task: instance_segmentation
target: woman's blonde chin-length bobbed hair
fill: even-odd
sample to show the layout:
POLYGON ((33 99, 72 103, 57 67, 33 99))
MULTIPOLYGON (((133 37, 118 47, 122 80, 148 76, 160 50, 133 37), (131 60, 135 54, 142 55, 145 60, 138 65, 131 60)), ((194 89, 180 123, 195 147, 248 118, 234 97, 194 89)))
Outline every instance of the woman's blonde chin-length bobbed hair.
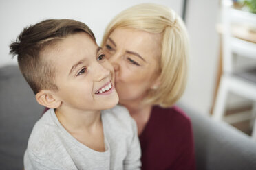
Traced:
POLYGON ((125 27, 162 34, 160 86, 149 90, 145 102, 168 107, 175 104, 186 87, 189 38, 178 14, 162 5, 145 3, 118 14, 107 26, 102 45, 116 28, 125 27))

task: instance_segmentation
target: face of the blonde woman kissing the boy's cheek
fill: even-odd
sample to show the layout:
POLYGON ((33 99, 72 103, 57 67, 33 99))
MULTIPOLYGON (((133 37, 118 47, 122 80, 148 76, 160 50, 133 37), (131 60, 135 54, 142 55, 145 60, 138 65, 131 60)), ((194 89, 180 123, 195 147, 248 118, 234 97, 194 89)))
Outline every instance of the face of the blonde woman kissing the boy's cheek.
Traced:
POLYGON ((114 66, 116 90, 121 104, 138 102, 158 86, 161 34, 118 28, 112 32, 103 52, 114 66))

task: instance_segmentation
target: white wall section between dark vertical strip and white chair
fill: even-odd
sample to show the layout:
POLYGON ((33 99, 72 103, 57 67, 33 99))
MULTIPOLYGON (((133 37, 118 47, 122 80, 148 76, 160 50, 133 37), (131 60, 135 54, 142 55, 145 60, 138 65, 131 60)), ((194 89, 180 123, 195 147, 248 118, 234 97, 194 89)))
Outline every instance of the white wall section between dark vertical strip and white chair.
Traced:
POLYGON ((191 58, 189 80, 181 101, 203 114, 210 112, 217 76, 218 3, 217 0, 189 0, 186 12, 191 58))

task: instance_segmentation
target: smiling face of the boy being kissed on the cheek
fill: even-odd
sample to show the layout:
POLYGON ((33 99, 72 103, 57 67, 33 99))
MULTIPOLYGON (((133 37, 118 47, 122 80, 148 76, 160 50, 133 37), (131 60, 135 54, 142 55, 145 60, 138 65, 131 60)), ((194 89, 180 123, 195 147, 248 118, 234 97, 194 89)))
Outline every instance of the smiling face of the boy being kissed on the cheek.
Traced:
POLYGON ((53 59, 56 96, 61 106, 73 110, 103 110, 118 103, 114 69, 103 51, 84 32, 67 36, 50 50, 53 59))

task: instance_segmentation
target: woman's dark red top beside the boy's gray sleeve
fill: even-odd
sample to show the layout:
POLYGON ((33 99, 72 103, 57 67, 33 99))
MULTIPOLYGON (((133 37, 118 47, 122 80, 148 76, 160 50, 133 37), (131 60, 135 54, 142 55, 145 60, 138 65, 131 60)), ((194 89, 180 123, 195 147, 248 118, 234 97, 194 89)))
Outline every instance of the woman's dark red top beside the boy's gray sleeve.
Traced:
POLYGON ((191 121, 179 108, 153 106, 139 138, 142 169, 195 169, 191 121))

